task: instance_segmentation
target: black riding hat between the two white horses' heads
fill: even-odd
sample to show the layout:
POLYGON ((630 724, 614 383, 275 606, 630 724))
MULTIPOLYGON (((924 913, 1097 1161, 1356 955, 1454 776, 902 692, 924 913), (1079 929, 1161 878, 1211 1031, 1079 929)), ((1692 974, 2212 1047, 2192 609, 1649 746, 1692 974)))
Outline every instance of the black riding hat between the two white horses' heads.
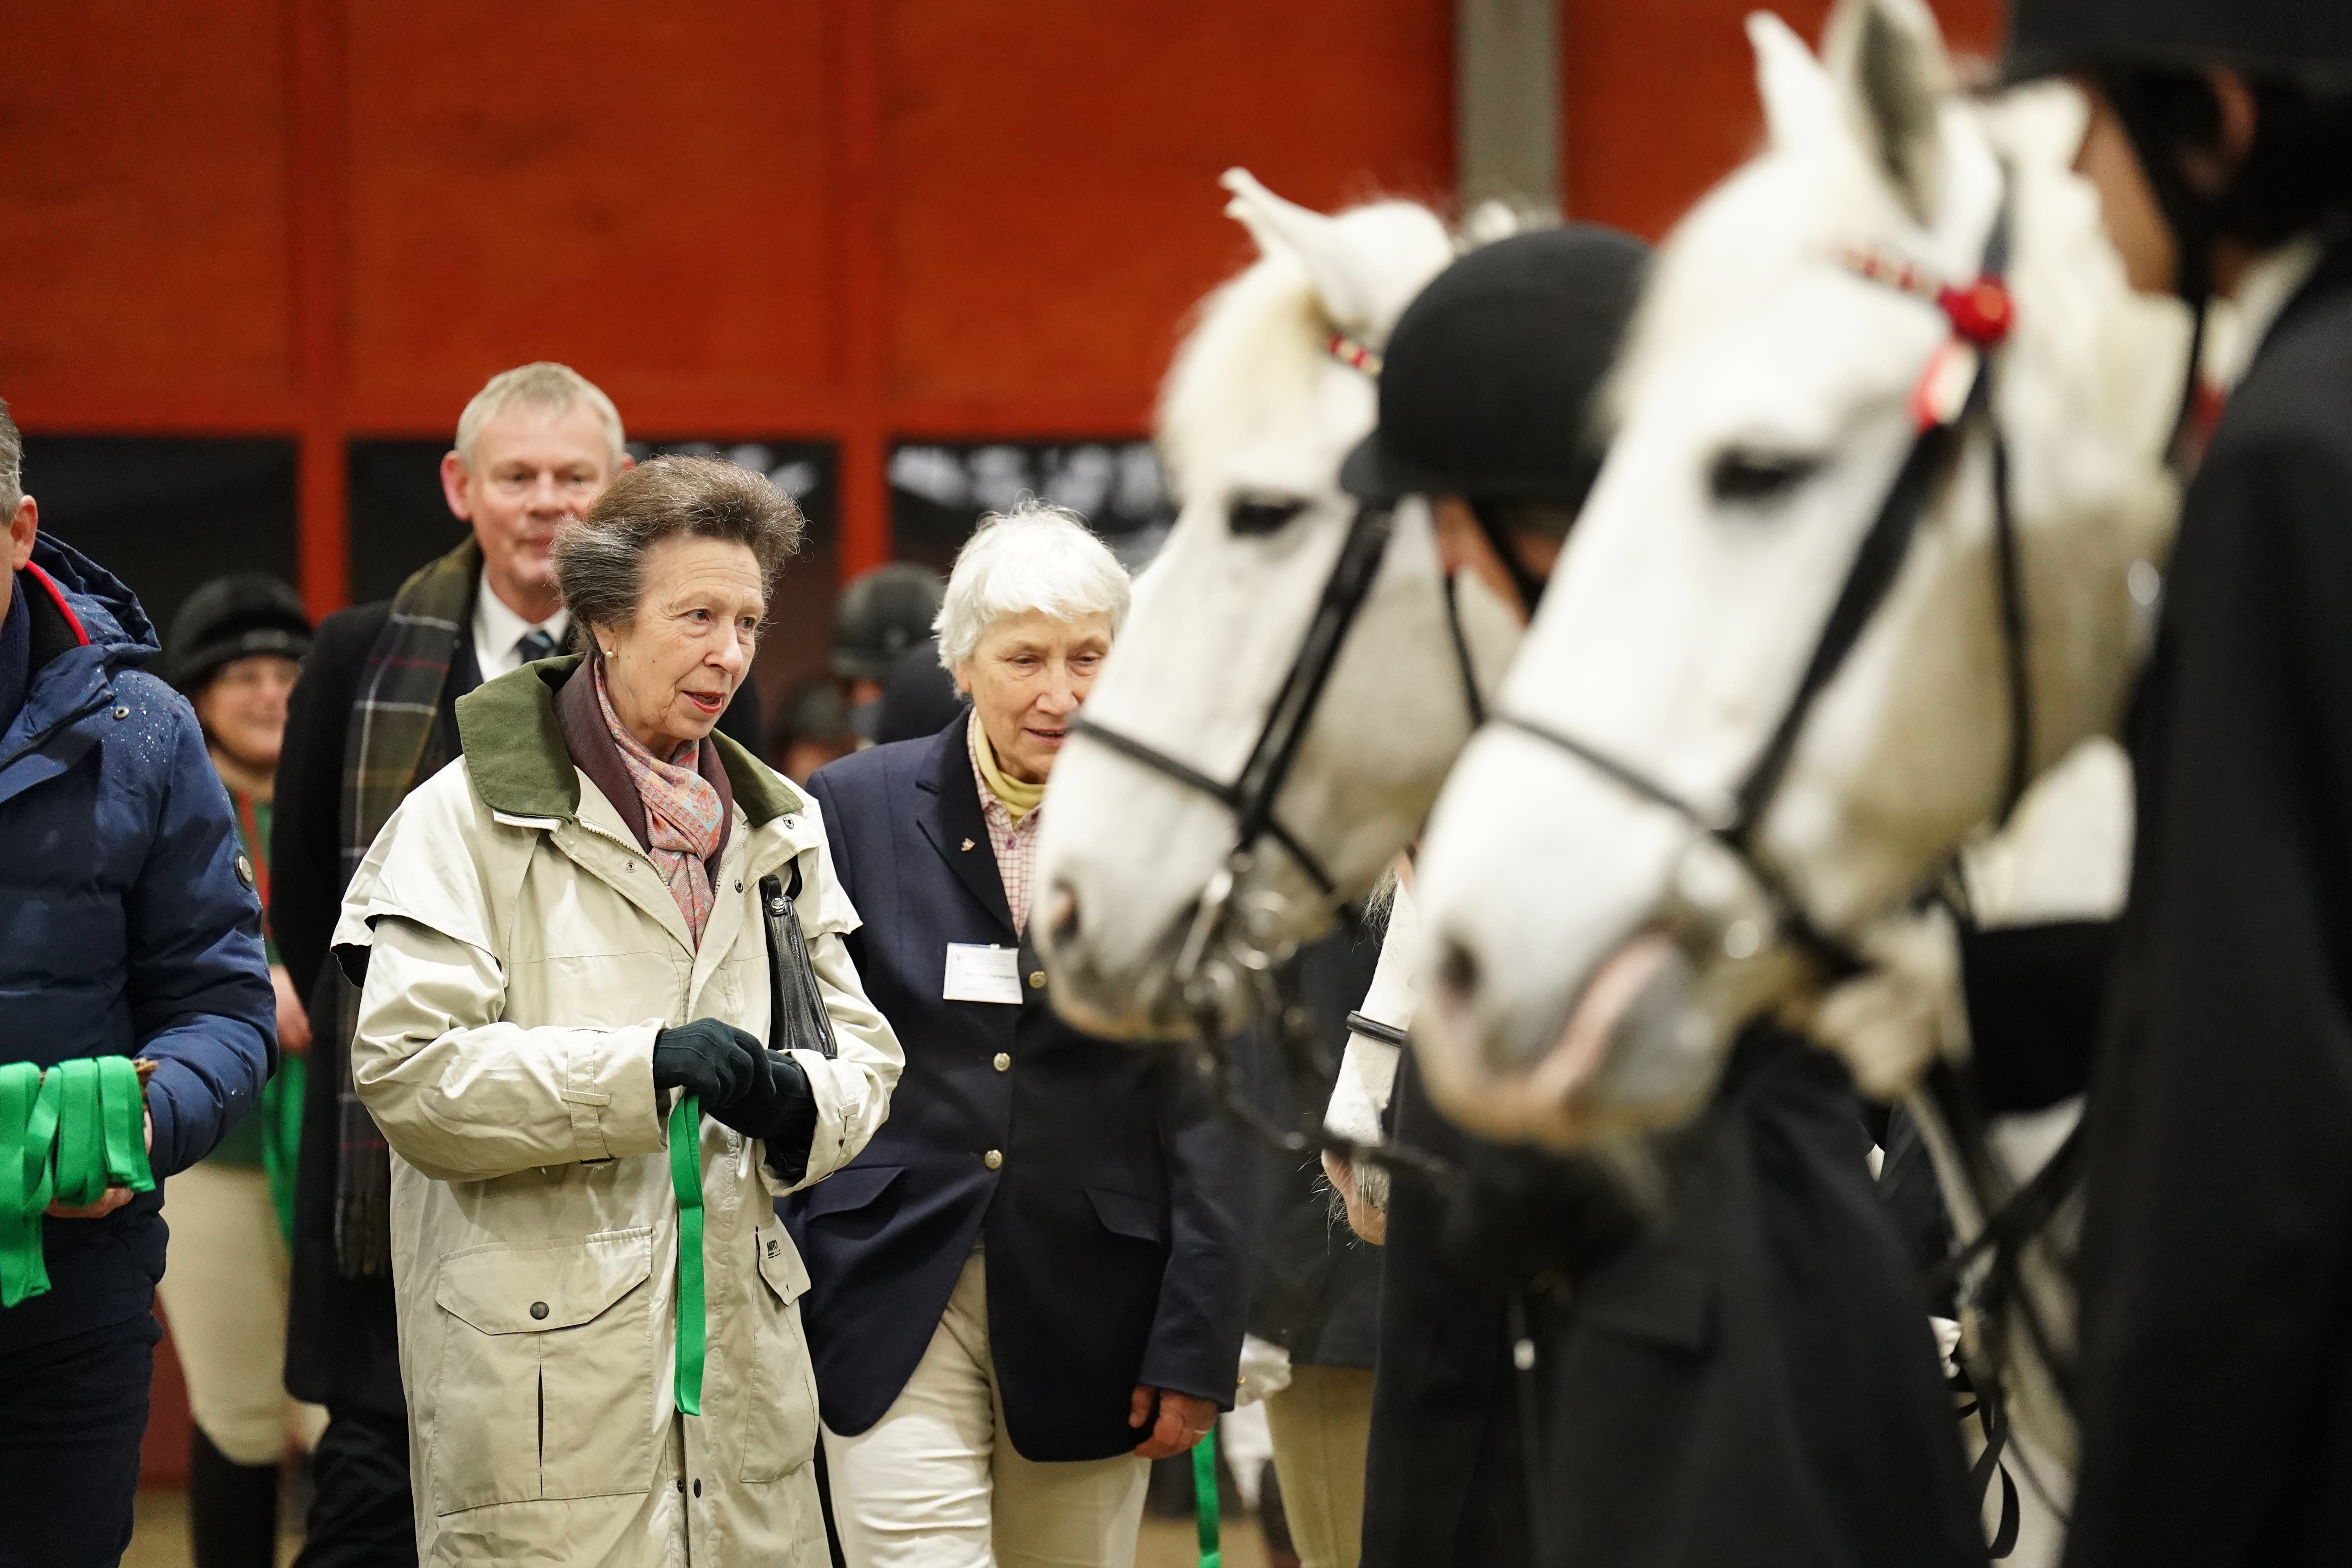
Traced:
POLYGON ((1404 308, 1381 428, 1348 454, 1362 501, 1526 496, 1576 505, 1599 473, 1590 404, 1616 362, 1649 247, 1595 223, 1484 244, 1404 308))

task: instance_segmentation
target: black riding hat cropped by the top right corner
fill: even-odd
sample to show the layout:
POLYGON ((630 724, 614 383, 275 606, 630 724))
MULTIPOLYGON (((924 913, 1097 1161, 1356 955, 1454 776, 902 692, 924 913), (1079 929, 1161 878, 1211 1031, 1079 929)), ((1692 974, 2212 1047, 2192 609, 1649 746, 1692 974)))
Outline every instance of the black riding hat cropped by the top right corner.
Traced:
POLYGON ((2023 82, 2117 66, 2237 66, 2352 85, 2345 0, 2016 0, 2002 73, 2023 82))

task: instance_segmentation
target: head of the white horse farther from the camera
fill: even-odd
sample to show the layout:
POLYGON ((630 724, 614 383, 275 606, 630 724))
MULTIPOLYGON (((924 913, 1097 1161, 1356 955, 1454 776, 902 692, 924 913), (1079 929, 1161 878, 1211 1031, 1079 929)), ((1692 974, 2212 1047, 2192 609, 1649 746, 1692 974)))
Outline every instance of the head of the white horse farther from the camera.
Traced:
MULTIPOLYGON (((1087 722, 1230 783, 1265 724, 1357 505, 1341 458, 1376 418, 1371 369, 1404 306, 1451 259, 1411 202, 1338 216, 1242 172, 1225 209, 1261 259, 1218 289, 1176 355, 1160 447, 1183 512, 1087 698, 1087 722)), ((1515 637, 1491 597, 1465 632, 1501 670, 1515 637)), ((1334 919, 1418 827, 1470 733, 1425 510, 1404 508, 1324 701, 1275 802, 1334 886, 1268 839, 1235 889, 1279 940, 1334 919)), ((1054 766, 1037 842, 1037 945, 1056 1004, 1103 1034, 1167 1034, 1169 976, 1202 893, 1235 849, 1232 811, 1080 731, 1054 766)))

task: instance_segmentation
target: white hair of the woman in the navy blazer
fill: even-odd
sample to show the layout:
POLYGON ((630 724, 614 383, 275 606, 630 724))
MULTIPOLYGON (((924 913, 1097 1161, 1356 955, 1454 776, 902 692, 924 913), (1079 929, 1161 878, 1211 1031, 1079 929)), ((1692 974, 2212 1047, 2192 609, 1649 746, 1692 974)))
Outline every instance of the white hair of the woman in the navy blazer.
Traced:
POLYGON ((1129 581, 1120 557, 1065 505, 1023 498, 1009 512, 981 517, 948 574, 948 597, 931 630, 948 670, 971 658, 1004 616, 1042 609, 1056 621, 1110 616, 1127 621, 1129 581))

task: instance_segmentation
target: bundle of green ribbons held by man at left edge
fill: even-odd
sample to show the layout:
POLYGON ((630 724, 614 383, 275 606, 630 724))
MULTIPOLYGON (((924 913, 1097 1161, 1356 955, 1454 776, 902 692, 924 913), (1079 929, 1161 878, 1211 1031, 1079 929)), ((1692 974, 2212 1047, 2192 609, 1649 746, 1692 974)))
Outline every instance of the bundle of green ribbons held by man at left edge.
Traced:
POLYGON ((0 1307, 49 1288, 40 1215, 52 1199, 96 1204, 108 1187, 155 1190, 132 1058, 0 1067, 0 1307))

